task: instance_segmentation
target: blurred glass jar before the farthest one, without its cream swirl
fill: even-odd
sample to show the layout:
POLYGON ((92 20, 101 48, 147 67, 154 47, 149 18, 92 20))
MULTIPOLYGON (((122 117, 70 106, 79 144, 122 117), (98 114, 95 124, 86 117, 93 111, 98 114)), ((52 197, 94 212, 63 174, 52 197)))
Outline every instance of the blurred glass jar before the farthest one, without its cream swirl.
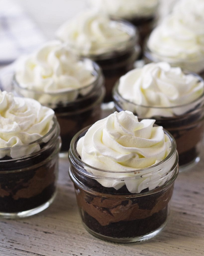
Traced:
POLYGON ((125 31, 129 35, 129 40, 114 42, 112 45, 108 42, 107 46, 104 45, 104 49, 107 49, 98 54, 88 53, 85 48, 77 49, 74 45, 69 45, 69 41, 67 42, 75 54, 90 58, 101 67, 105 77, 105 102, 112 101, 111 92, 114 83, 127 71, 133 69, 135 60, 140 53, 136 28, 131 23, 123 20, 111 20, 111 24, 125 31))

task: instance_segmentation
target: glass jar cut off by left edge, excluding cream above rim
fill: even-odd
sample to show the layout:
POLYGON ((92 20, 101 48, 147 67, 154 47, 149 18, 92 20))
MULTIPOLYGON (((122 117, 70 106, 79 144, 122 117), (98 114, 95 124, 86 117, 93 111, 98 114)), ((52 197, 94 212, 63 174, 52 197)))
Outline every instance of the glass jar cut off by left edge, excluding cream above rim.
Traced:
POLYGON ((4 156, 0 159, 0 217, 28 217, 53 202, 61 146, 55 116, 53 121, 53 127, 40 139, 22 146, 0 148, 4 156), (34 152, 30 154, 31 151, 34 152), (20 156, 18 152, 25 155, 20 156))

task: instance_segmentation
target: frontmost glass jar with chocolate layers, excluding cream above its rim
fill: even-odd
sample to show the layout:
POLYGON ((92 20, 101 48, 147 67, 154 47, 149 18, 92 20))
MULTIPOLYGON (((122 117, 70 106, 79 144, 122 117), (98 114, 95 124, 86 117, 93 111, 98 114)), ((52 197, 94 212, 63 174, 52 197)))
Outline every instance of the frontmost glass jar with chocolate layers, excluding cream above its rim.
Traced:
POLYGON ((164 130, 170 138, 171 151, 163 161, 121 173, 98 169, 81 160, 76 147, 86 131, 87 127, 73 137, 69 151, 69 175, 84 227, 92 235, 112 242, 129 243, 154 237, 167 223, 169 201, 178 174, 174 138, 164 130), (101 185, 104 183, 109 186, 101 185), (118 183, 125 185, 118 190, 110 185, 118 183), (139 193, 130 193, 127 189, 139 184, 148 184, 149 189, 139 193))

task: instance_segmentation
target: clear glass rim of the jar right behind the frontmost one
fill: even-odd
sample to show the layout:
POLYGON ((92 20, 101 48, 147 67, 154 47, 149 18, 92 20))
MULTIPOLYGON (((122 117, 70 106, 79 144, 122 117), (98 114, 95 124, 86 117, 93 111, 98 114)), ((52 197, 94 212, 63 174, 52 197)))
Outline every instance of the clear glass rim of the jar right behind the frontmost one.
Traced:
MULTIPOLYGON (((203 78, 200 77, 198 74, 193 73, 193 72, 185 72, 185 73, 193 74, 194 76, 198 77, 198 79, 200 80, 200 82, 203 82, 203 83, 204 83, 203 78)), ((123 98, 123 97, 121 96, 121 94, 119 93, 119 91, 118 91, 118 86, 119 86, 119 80, 116 82, 116 84, 115 84, 114 87, 113 87, 113 98, 114 98, 114 94, 117 93, 117 95, 119 95, 119 97, 120 97, 121 99, 123 99, 124 101, 126 101, 127 103, 130 103, 130 104, 132 104, 132 105, 134 105, 134 106, 147 108, 147 109, 176 109, 176 108, 183 108, 183 107, 188 106, 188 105, 190 105, 190 104, 194 104, 194 103, 196 103, 197 101, 200 101, 200 100, 204 102, 204 91, 203 91, 203 93, 200 95, 199 98, 197 98, 197 99, 195 99, 194 101, 191 101, 191 102, 189 102, 189 103, 183 104, 183 105, 168 106, 168 107, 139 105, 139 104, 137 104, 137 103, 134 103, 134 102, 132 102, 132 101, 129 101, 129 100, 123 98)))

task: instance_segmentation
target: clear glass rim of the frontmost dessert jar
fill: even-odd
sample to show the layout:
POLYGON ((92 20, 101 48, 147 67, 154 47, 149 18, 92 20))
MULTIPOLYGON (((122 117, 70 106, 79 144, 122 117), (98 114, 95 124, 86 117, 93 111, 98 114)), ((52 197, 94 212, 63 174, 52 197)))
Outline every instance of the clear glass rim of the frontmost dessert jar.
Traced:
MULTIPOLYGON (((141 173, 141 175, 147 171, 148 169, 150 168, 156 168, 158 167, 159 165, 167 162, 169 159, 171 159, 173 157, 173 155, 175 154, 176 152, 176 141, 174 139, 174 137, 165 129, 163 129, 164 133, 167 134, 167 136, 170 138, 170 141, 171 141, 171 150, 169 152, 169 154, 167 155, 167 157, 165 157, 161 162, 155 164, 155 165, 152 165, 152 166, 149 166, 149 167, 146 167, 146 168, 143 168, 143 169, 136 169, 136 170, 130 170, 130 171, 126 171, 126 172, 117 172, 117 171, 110 171, 110 170, 104 170, 104 169, 100 169, 100 168, 96 168, 96 167, 93 167, 91 165, 88 165, 86 164, 85 162, 83 162, 79 157, 78 155, 76 154, 76 150, 74 149, 74 145, 76 143, 76 141, 78 140, 78 138, 80 137, 80 135, 82 133, 84 133, 85 131, 88 130, 88 128, 91 127, 90 126, 87 126, 85 127, 84 129, 80 130, 78 133, 76 133, 74 135, 74 137, 72 138, 71 140, 71 143, 70 143, 70 149, 69 149, 69 161, 70 161, 70 164, 73 162, 72 161, 72 158, 74 158, 74 162, 77 161, 78 163, 80 163, 82 166, 84 167, 87 167, 87 168, 90 168, 90 169, 94 169, 94 170, 97 170, 97 171, 100 171, 101 173, 115 173, 115 174, 127 174, 127 173, 134 173, 134 172, 139 172, 141 173)), ((84 133, 85 134, 85 133, 84 133)), ((84 168, 82 170, 82 173, 83 174, 92 174, 90 172, 87 172, 84 168)), ((88 175, 87 175, 88 176, 88 175)), ((103 176, 103 175, 101 175, 103 176)), ((105 177, 105 178, 108 178, 108 177, 105 177)))

